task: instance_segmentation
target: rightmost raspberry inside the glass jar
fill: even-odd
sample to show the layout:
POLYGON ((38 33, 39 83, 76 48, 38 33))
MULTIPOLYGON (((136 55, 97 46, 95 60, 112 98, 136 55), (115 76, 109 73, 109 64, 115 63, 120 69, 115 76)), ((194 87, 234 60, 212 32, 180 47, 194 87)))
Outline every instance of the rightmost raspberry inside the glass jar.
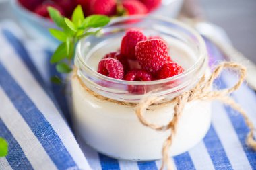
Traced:
POLYGON ((166 62, 162 69, 158 71, 158 79, 166 79, 174 75, 179 75, 183 73, 183 68, 179 66, 176 62, 166 62))

